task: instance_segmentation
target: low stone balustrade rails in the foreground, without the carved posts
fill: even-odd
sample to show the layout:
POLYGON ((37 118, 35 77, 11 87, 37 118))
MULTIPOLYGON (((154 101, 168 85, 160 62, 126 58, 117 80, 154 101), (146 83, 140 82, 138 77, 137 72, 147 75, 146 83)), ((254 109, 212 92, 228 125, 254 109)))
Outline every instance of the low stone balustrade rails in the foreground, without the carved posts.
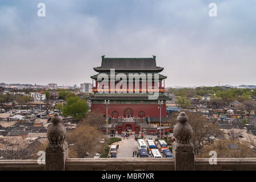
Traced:
MULTIPOLYGON (((65 170, 142 170, 174 171, 174 159, 66 159, 65 170)), ((0 171, 43 171, 45 165, 37 160, 0 160, 0 171)), ((197 171, 256 171, 256 158, 218 158, 217 164, 209 164, 207 158, 195 158, 197 171)))

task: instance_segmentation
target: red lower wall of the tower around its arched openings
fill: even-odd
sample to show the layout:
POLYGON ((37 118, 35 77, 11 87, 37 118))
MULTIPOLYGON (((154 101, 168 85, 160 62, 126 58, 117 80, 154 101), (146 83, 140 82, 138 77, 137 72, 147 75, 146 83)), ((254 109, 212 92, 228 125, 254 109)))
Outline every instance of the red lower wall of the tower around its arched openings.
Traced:
MULTIPOLYGON (((127 108, 133 110, 133 117, 138 117, 139 111, 144 111, 145 116, 149 117, 160 117, 160 110, 158 109, 158 104, 110 104, 107 113, 111 116, 113 111, 118 111, 119 117, 124 117, 123 111, 127 108)), ((91 111, 99 111, 106 115, 105 104, 91 104, 91 111)), ((161 116, 166 117, 166 106, 162 105, 161 116)))

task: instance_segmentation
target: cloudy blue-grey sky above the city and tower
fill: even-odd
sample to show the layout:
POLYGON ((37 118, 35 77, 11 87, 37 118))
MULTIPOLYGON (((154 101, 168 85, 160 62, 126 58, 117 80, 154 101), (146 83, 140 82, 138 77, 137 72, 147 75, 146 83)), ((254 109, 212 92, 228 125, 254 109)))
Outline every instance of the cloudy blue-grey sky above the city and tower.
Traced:
POLYGON ((81 84, 102 55, 156 55, 166 86, 256 85, 255 10, 255 0, 1 0, 0 82, 81 84))

